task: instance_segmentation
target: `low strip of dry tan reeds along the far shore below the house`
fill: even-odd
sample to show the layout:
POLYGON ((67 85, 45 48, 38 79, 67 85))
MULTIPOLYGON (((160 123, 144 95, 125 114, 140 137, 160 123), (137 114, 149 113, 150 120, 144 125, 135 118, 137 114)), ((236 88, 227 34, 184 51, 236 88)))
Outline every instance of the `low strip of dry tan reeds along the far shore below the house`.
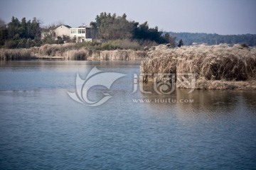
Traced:
MULTIPOLYGON (((123 43, 125 44, 127 42, 124 40, 123 43)), ((131 44, 127 43, 127 49, 129 49, 128 45, 131 44)), ((122 46, 124 47, 124 45, 122 46)), ((97 45, 93 45, 93 43, 46 44, 30 49, 0 49, 0 57, 1 60, 142 60, 146 57, 146 52, 143 50, 127 49, 114 47, 113 50, 97 50, 97 45), (92 45, 93 47, 86 45, 92 45)))

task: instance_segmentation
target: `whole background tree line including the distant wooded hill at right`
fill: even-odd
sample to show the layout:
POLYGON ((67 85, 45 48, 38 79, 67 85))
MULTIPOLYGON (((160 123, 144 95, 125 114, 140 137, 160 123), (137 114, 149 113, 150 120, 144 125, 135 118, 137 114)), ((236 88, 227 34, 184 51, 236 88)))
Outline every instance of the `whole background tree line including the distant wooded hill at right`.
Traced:
MULTIPOLYGON (((138 23, 136 21, 127 20, 124 13, 122 16, 117 16, 116 13, 100 13, 95 18, 95 21, 90 23, 92 28, 97 28, 98 38, 103 42, 113 40, 131 40, 141 42, 154 42, 156 44, 169 43, 171 46, 181 47, 182 45, 192 45, 193 42, 207 43, 208 45, 215 45, 220 43, 246 43, 249 46, 256 45, 256 35, 218 35, 207 33, 164 33, 156 26, 149 28, 147 22, 138 23), (176 40, 179 40, 176 42, 176 40)), ((63 43, 63 40, 55 40, 53 35, 49 34, 41 40, 41 32, 53 33, 57 26, 41 27, 40 21, 37 18, 26 21, 22 18, 14 16, 11 22, 4 23, 0 19, 0 47, 6 48, 28 48, 40 46, 46 43, 63 43)), ((148 43, 150 44, 150 43, 148 43)))

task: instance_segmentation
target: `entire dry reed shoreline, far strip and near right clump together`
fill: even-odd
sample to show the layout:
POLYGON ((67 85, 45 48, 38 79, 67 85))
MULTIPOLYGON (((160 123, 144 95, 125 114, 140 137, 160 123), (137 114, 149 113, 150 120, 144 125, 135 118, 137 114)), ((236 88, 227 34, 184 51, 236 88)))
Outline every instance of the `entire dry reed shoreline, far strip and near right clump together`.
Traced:
MULTIPOLYGON (((142 61, 141 74, 195 73, 195 89, 256 90, 256 49, 245 49, 238 45, 197 45, 181 48, 158 45, 147 51, 87 50, 83 47, 74 49, 70 44, 43 45, 30 49, 0 49, 0 57, 1 61, 142 61)), ((156 81, 164 79, 166 77, 159 77, 156 81)), ((154 80, 151 76, 142 76, 142 81, 146 83, 154 80)), ((176 83, 176 88, 191 87, 176 83)))

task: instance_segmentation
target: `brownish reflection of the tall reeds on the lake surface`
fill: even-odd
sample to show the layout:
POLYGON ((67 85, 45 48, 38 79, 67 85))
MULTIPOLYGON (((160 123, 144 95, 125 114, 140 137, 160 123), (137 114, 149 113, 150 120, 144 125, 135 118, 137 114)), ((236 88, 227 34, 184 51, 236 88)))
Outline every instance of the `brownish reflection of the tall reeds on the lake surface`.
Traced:
MULTIPOLYGON (((238 112, 256 113, 256 91, 215 91, 175 89, 168 95, 156 93, 152 83, 141 84, 141 99, 157 113, 173 111, 180 120, 227 117, 238 112), (150 102, 149 102, 150 101, 150 102), (174 111, 175 109, 175 111, 174 111)), ((239 114, 240 114, 239 113, 239 114)))

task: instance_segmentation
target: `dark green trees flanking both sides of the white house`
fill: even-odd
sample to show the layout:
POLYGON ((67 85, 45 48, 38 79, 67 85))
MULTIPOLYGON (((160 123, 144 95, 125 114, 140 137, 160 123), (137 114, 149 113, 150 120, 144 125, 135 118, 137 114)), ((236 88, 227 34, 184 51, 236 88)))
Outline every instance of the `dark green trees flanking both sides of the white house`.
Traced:
MULTIPOLYGON (((135 21, 128 21, 127 16, 124 13, 122 16, 117 16, 116 13, 100 13, 95 18, 95 21, 90 23, 92 28, 98 29, 98 38, 103 42, 112 40, 138 40, 142 42, 156 42, 170 43, 175 46, 175 38, 171 37, 169 33, 163 34, 159 31, 159 28, 149 28, 147 22, 139 24, 135 21)), ((40 21, 37 18, 26 21, 26 18, 22 18, 18 21, 18 18, 12 17, 11 22, 4 23, 0 19, 0 47, 6 48, 24 48, 40 46, 46 43, 61 43, 63 40, 55 40, 52 33, 57 26, 45 26, 41 27, 40 21), (41 33, 44 34, 44 38, 41 40, 41 33)), ((150 43, 147 43, 150 44, 150 43)))

